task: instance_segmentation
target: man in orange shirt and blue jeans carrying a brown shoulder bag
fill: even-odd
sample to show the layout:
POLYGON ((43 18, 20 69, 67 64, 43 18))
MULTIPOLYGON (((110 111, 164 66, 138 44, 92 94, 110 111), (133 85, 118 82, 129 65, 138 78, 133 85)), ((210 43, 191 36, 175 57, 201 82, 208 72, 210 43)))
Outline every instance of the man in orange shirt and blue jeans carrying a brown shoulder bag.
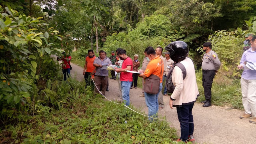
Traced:
MULTIPOLYGON (((148 116, 156 117, 156 114, 158 113, 158 95, 163 86, 162 78, 164 73, 164 62, 156 55, 156 51, 151 46, 145 49, 144 54, 146 59, 150 61, 144 73, 139 74, 138 76, 148 78, 151 74, 154 74, 160 78, 160 86, 157 94, 148 94, 147 92, 144 92, 146 105, 148 107, 148 116)), ((149 118, 149 120, 152 121, 153 118, 149 118)))

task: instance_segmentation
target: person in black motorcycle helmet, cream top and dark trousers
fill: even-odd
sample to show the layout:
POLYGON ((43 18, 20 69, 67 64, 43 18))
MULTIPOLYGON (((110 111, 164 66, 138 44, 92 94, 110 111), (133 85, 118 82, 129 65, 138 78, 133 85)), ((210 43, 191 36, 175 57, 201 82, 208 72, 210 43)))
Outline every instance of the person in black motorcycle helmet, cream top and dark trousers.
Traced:
POLYGON ((186 69, 186 77, 183 79, 182 70, 174 65, 172 72, 172 83, 175 86, 169 105, 177 108, 178 120, 180 122, 180 139, 177 141, 194 141, 194 120, 192 109, 194 102, 199 96, 196 84, 196 72, 193 61, 188 58, 189 48, 183 41, 175 41, 165 47, 170 52, 170 58, 174 64, 181 63, 186 69))

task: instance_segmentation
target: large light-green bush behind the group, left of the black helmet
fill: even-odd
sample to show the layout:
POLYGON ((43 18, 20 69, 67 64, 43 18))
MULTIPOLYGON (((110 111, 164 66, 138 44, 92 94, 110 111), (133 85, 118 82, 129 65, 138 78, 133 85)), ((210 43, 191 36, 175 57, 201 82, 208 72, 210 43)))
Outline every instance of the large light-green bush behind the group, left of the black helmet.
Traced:
POLYGON ((183 38, 185 35, 172 27, 170 20, 161 14, 148 16, 144 22, 136 24, 136 28, 128 30, 128 32, 114 33, 106 38, 103 50, 110 54, 117 48, 126 50, 128 56, 134 54, 139 55, 139 59, 143 60, 144 50, 148 46, 167 45, 170 41, 183 38))

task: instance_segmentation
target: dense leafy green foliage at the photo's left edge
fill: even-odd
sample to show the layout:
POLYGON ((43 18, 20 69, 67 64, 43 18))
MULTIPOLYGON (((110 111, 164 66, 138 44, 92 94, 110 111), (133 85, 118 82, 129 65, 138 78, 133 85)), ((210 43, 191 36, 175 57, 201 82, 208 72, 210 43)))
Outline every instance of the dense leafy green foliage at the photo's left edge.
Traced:
MULTIPOLYGON (((30 97, 32 84, 53 79, 60 68, 50 57, 61 52, 56 48, 58 31, 40 18, 32 18, 15 10, 0 8, 0 103, 14 106, 30 97), (5 12, 7 13, 5 13, 5 12)), ((42 18, 42 17, 41 17, 42 18)))

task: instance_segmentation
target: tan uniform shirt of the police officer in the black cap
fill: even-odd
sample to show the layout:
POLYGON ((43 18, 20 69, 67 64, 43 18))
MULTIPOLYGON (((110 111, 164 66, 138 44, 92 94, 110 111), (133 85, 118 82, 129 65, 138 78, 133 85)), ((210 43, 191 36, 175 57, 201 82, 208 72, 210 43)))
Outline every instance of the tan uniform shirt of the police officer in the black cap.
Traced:
POLYGON ((220 60, 216 52, 210 50, 207 54, 203 56, 202 70, 219 70, 220 60))

